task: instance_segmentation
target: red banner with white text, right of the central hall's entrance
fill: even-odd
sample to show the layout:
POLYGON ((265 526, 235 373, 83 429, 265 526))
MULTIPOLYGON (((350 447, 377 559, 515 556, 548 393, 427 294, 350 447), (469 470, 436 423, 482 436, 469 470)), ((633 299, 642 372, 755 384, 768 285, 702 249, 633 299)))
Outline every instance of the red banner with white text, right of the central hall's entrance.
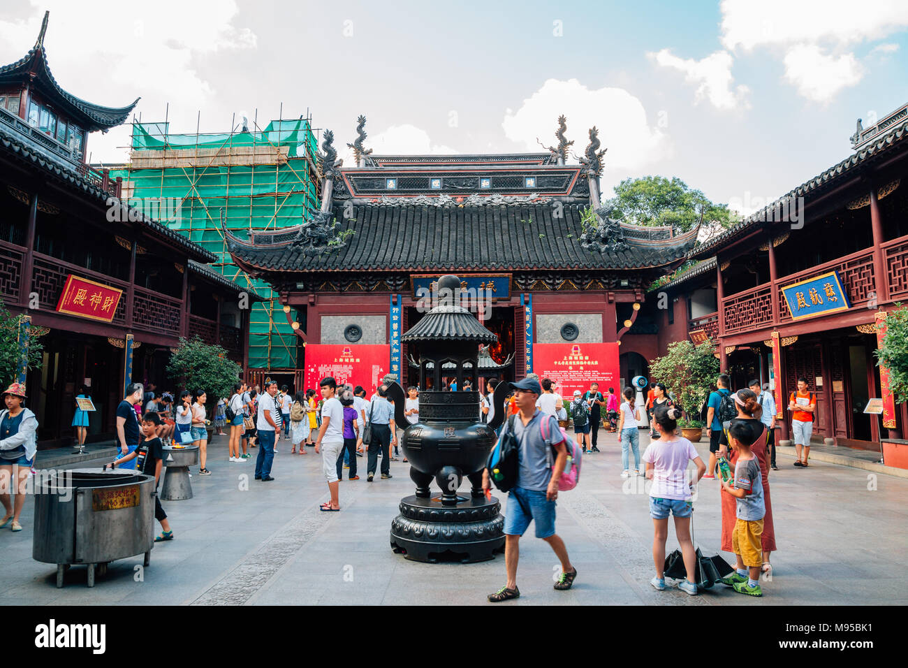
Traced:
POLYGON ((539 380, 551 378, 560 384, 558 394, 570 399, 574 390, 586 392, 599 384, 605 395, 609 387, 620 392, 618 344, 533 344, 533 371, 539 380))

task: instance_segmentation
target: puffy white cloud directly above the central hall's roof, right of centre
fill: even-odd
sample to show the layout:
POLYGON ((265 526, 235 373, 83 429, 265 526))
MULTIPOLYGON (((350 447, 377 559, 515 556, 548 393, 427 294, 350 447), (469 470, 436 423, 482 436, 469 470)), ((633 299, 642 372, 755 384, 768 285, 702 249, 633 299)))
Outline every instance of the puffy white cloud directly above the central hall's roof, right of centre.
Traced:
POLYGON ((671 153, 666 135, 646 122, 646 110, 637 97, 622 88, 590 90, 577 79, 548 79, 516 112, 508 109, 501 126, 508 139, 538 152, 542 148, 537 137, 546 145, 556 143, 553 133, 562 114, 568 117, 567 136, 575 141, 570 150, 576 155, 582 155, 589 143, 589 128, 597 126, 602 148, 608 149, 603 158, 603 192, 611 187, 608 183, 617 183, 628 172, 639 172, 671 153))

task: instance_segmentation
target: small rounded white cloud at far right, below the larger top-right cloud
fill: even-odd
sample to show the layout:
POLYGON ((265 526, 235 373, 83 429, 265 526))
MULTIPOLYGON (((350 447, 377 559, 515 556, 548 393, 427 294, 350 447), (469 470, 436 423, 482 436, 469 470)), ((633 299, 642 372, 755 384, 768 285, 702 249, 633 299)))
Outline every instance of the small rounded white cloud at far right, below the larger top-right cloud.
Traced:
POLYGON ((827 103, 843 88, 857 85, 864 67, 854 54, 826 55, 817 45, 798 45, 785 54, 785 81, 800 95, 827 103))

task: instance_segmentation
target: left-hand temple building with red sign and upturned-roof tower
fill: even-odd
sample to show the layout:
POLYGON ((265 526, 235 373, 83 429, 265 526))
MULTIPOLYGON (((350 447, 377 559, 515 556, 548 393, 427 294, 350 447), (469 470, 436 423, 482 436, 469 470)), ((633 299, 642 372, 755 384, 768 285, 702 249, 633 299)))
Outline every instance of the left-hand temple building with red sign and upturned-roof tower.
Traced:
POLYGON ((214 255, 125 206, 121 180, 85 164, 90 133, 122 124, 136 103, 67 93, 46 29, 47 15, 34 48, 0 66, 0 299, 44 348, 24 378, 39 447, 72 442, 82 384, 97 409, 89 442, 112 437, 125 383, 173 386, 165 366, 181 336, 222 344, 243 364, 249 313, 242 288, 205 266, 214 255))

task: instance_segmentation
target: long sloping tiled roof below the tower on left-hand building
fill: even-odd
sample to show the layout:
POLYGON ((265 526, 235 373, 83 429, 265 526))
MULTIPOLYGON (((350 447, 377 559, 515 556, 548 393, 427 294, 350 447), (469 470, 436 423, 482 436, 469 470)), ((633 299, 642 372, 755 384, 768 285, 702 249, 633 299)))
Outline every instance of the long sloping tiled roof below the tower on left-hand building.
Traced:
MULTIPOLYGON (((45 174, 57 179, 58 181, 63 182, 64 184, 74 187, 77 191, 81 191, 84 194, 88 194, 100 200, 105 205, 107 201, 113 196, 107 191, 97 187, 97 185, 86 179, 83 175, 78 174, 70 167, 64 165, 62 161, 58 162, 47 157, 43 153, 39 153, 37 150, 28 145, 21 135, 14 135, 13 133, 9 132, 3 125, 0 125, 0 150, 8 152, 10 155, 13 155, 15 158, 24 162, 26 165, 40 167, 44 170, 45 174)), ((116 200, 116 198, 114 198, 114 200, 116 200)), ((119 202, 119 200, 117 201, 119 202)), ((121 205, 123 207, 126 207, 126 204, 121 203, 121 205)), ((186 251, 189 252, 192 258, 196 260, 202 260, 204 262, 215 262, 218 259, 214 254, 209 253, 199 244, 192 243, 189 239, 183 236, 183 234, 174 232, 165 225, 153 221, 151 218, 146 217, 137 209, 133 209, 132 211, 135 212, 133 216, 138 218, 138 220, 136 221, 137 223, 142 224, 152 234, 163 237, 173 242, 174 244, 183 247, 186 251)))

